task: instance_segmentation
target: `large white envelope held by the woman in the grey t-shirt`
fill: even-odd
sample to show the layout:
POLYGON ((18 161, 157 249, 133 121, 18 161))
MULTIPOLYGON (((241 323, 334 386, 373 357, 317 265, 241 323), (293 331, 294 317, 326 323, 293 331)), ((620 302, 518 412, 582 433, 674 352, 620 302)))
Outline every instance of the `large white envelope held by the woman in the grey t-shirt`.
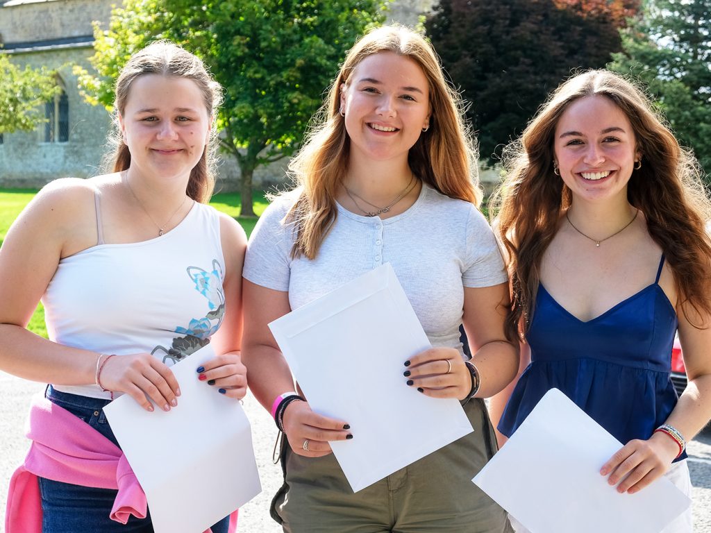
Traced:
POLYGON ((331 448, 354 492, 474 431, 456 399, 405 384, 430 345, 389 263, 269 328, 311 408, 351 425, 331 448))

